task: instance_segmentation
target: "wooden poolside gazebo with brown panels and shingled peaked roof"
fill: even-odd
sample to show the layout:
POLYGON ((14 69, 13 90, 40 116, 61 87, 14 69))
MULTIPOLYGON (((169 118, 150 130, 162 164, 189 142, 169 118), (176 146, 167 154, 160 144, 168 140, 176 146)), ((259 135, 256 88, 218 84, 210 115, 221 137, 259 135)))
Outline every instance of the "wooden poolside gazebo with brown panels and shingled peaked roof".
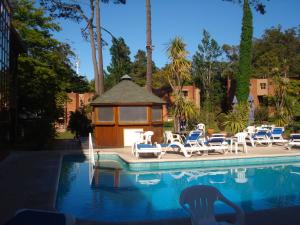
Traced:
POLYGON ((143 131, 163 141, 162 105, 165 102, 124 75, 121 82, 91 102, 95 144, 98 147, 131 146, 143 131))

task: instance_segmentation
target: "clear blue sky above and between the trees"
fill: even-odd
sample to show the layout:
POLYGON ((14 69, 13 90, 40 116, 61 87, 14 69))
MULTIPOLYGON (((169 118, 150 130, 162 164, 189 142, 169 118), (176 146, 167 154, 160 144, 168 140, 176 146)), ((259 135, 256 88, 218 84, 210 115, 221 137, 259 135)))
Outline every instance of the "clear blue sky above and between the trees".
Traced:
MULTIPOLYGON (((81 0, 81 2, 88 2, 81 0)), ((282 29, 300 25, 300 0, 264 1, 266 14, 253 13, 253 27, 256 38, 265 29, 281 25, 282 29)), ((84 3, 83 6, 88 6, 84 3)), ((207 30, 220 46, 238 45, 242 24, 242 6, 222 0, 151 0, 152 60, 156 66, 168 63, 168 43, 179 36, 186 43, 189 59, 197 51, 203 29, 207 30)), ((93 79, 93 65, 90 44, 80 33, 84 25, 72 21, 58 20, 62 31, 54 36, 68 42, 80 59, 79 73, 93 79)), ((131 51, 131 59, 138 49, 146 50, 146 6, 145 0, 127 0, 125 5, 101 4, 101 25, 115 37, 123 37, 131 51)), ((104 69, 110 64, 111 37, 103 32, 108 46, 103 48, 104 69)))

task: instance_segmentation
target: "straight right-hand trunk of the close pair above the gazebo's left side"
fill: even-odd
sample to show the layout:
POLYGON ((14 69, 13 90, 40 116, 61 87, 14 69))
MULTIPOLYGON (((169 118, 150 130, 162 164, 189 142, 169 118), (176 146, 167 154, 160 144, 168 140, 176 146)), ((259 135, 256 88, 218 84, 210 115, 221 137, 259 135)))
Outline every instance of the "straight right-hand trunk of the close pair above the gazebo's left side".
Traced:
POLYGON ((101 35, 101 20, 100 20, 100 1, 96 0, 96 32, 97 32, 97 47, 98 47, 98 93, 104 92, 104 73, 103 73, 103 56, 102 56, 102 35, 101 35))

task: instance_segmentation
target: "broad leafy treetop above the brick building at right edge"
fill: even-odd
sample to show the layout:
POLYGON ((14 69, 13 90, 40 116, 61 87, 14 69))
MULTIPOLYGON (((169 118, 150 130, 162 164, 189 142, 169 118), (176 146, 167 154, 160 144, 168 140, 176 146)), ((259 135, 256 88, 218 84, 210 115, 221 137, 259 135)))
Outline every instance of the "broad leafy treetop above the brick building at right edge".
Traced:
POLYGON ((258 78, 300 77, 300 33, 297 28, 265 30, 253 43, 253 74, 258 78))

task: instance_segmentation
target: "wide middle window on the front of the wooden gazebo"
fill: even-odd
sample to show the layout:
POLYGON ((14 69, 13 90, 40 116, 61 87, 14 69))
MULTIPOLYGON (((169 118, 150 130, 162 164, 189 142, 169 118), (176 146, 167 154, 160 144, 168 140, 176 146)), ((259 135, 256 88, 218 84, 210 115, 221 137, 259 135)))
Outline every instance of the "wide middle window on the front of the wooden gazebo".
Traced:
POLYGON ((147 107, 146 106, 121 106, 119 108, 120 122, 147 122, 147 107))

